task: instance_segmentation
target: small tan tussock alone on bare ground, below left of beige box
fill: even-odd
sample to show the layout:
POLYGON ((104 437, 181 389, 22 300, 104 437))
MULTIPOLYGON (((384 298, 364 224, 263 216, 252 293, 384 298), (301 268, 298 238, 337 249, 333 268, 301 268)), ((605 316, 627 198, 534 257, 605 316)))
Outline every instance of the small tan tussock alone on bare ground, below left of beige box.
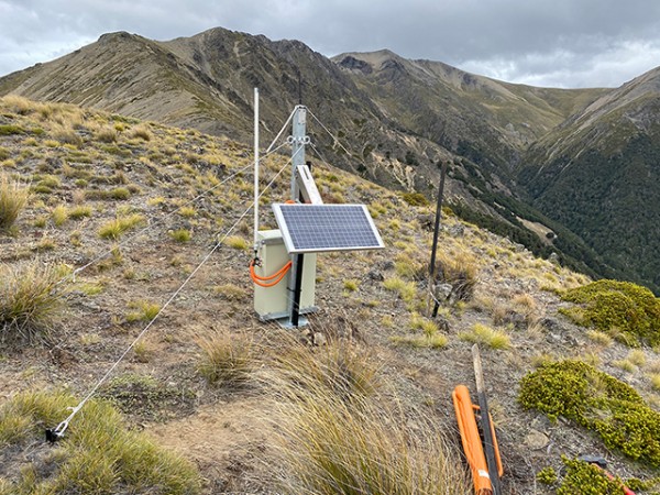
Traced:
POLYGON ((246 336, 228 333, 199 337, 201 356, 197 370, 210 385, 243 388, 252 381, 256 367, 256 346, 246 336))

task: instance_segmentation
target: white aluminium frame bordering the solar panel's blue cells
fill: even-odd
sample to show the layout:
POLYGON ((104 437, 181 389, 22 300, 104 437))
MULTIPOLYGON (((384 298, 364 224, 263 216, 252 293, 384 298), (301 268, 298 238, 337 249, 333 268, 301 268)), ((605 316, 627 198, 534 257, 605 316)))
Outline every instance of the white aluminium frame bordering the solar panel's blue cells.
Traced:
MULTIPOLYGON (((298 253, 324 253, 332 251, 364 251, 364 250, 378 250, 385 248, 383 244, 383 240, 381 234, 378 233, 378 229, 374 223, 366 206, 364 205, 284 205, 284 204, 274 204, 273 211, 275 213, 275 219, 277 221, 277 226, 282 232, 282 239, 284 240, 284 245, 289 254, 298 254, 298 253), (365 227, 369 227, 369 233, 373 235, 374 243, 371 244, 351 244, 351 245, 323 245, 323 246, 311 246, 311 248, 297 248, 294 242, 294 235, 290 229, 290 226, 285 219, 285 215, 283 213, 283 208, 316 208, 316 209, 328 209, 339 211, 340 209, 349 209, 349 208, 359 208, 364 216, 365 227)), ((345 223, 343 223, 345 226, 345 223)), ((339 231, 338 231, 339 233, 339 231)))

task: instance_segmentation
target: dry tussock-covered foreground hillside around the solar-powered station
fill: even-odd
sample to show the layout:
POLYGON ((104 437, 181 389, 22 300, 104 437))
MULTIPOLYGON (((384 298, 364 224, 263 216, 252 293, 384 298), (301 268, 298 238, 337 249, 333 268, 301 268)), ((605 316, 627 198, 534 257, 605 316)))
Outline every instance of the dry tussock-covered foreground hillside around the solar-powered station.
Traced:
MULTIPOLYGON (((263 186, 274 180, 264 206, 288 199, 288 166, 284 155, 263 161, 263 186)), ((252 309, 248 147, 0 100, 0 206, 24 198, 0 231, 1 495, 469 494, 451 392, 475 394, 473 342, 504 493, 580 493, 569 486, 585 475, 572 463, 581 454, 657 490, 659 466, 644 461, 654 454, 588 429, 605 409, 556 414, 542 387, 525 395, 531 406, 519 402, 522 377, 571 359, 600 393, 604 372, 637 391, 649 420, 659 414, 657 350, 563 315, 574 305, 560 294, 586 277, 446 211, 448 297, 428 319, 429 207, 320 161, 314 170, 327 202, 369 206, 386 249, 319 254, 320 310, 309 328, 284 331, 252 309), (45 442, 109 370, 63 438, 45 442), (564 463, 553 482, 549 468, 564 463)), ((522 383, 546 375, 531 376, 541 382, 522 383)))

